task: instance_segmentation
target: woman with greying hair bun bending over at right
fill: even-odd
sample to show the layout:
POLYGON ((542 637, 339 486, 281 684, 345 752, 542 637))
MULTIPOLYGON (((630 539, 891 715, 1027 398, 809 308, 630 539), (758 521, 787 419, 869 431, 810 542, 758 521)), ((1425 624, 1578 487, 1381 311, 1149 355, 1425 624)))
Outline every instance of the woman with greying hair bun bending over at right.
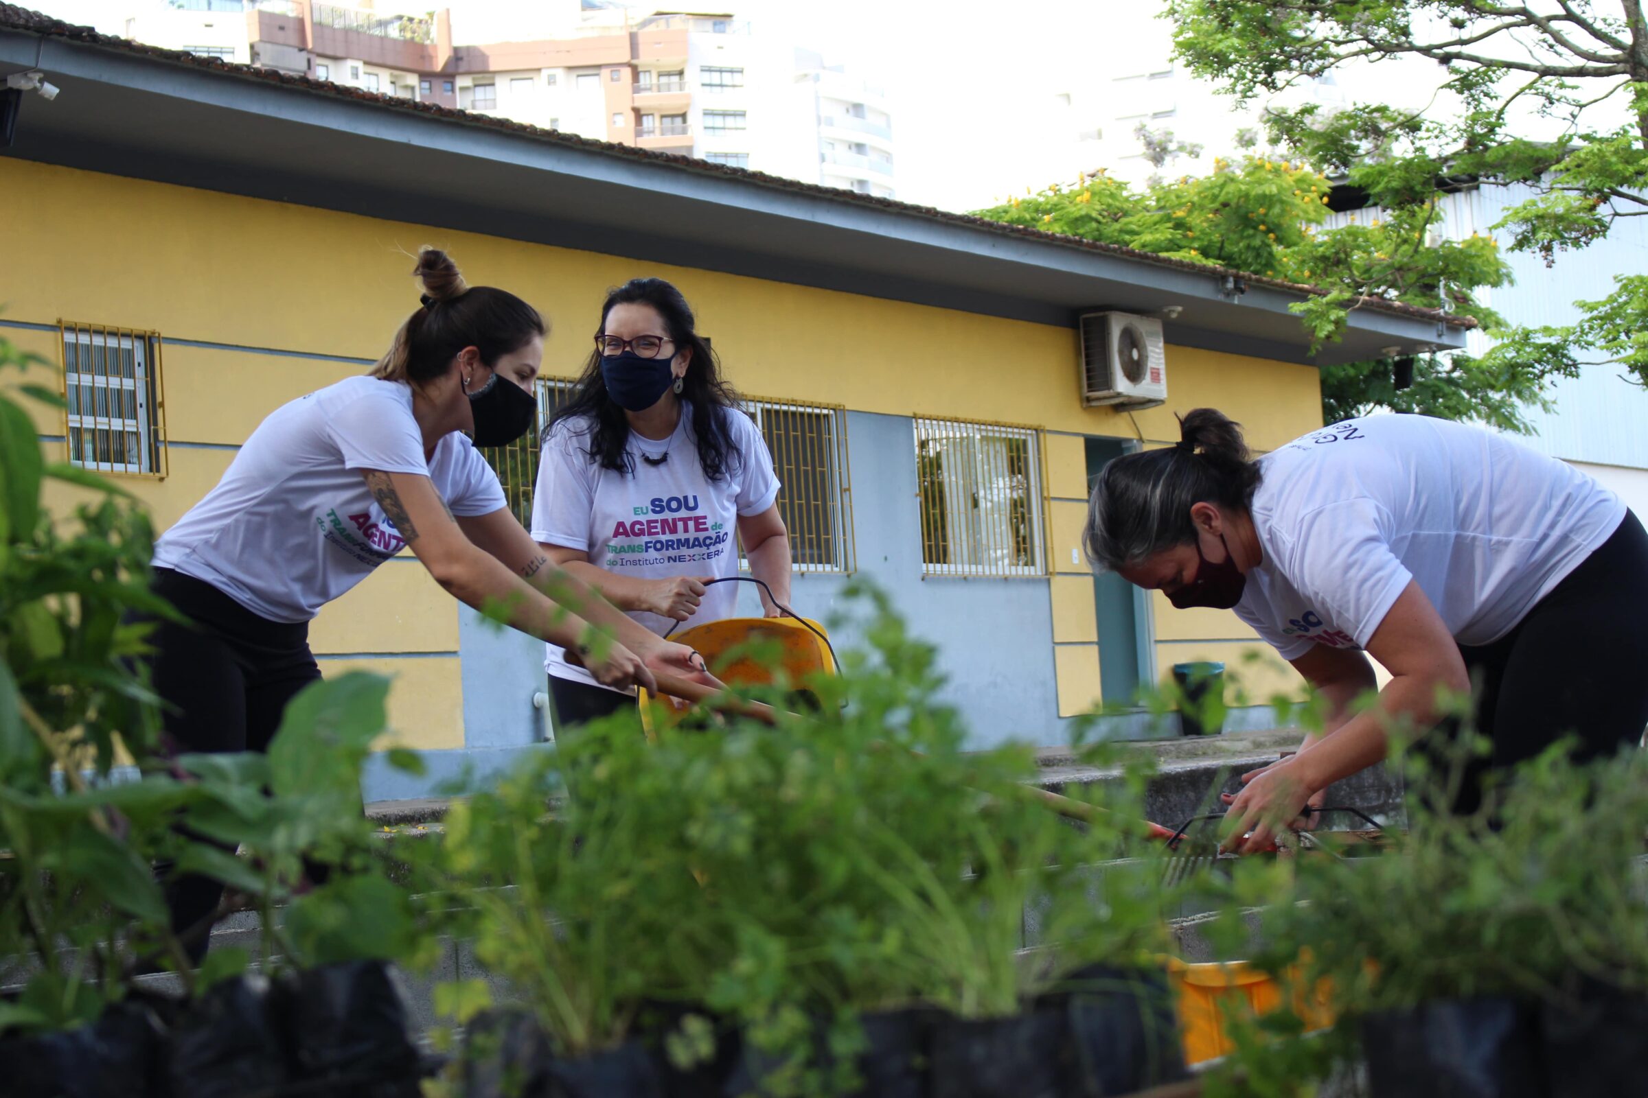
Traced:
POLYGON ((1577 734, 1580 759, 1641 739, 1648 533, 1608 489, 1417 415, 1346 420, 1257 461, 1213 408, 1180 433, 1099 474, 1088 556, 1175 607, 1234 609, 1330 705, 1299 754, 1243 775, 1233 848, 1267 844, 1332 782, 1384 759, 1393 721, 1434 728, 1440 690, 1475 686, 1491 741, 1455 812, 1477 810, 1488 770, 1562 736, 1577 734), (1391 680, 1356 713, 1369 655, 1391 680))

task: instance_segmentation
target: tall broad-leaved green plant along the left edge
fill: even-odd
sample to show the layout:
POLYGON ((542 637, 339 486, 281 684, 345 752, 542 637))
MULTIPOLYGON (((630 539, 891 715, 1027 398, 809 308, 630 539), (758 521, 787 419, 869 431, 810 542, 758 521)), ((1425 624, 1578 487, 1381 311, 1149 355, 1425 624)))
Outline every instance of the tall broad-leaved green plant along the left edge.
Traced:
MULTIPOLYGON (((0 372, 43 365, 0 337, 0 372)), ((16 392, 61 407, 49 390, 16 392)), ((122 942, 171 955, 166 910, 150 871, 165 821, 193 793, 170 779, 89 787, 122 747, 147 754, 158 719, 133 657, 148 593, 152 528, 101 477, 48 463, 28 412, 0 392, 0 953, 38 960, 0 1029, 63 1027, 122 994, 122 942), (92 491, 73 519, 41 502, 48 481, 92 491), (59 784, 68 793, 59 793, 59 784), (127 924, 133 924, 127 928, 127 924)))

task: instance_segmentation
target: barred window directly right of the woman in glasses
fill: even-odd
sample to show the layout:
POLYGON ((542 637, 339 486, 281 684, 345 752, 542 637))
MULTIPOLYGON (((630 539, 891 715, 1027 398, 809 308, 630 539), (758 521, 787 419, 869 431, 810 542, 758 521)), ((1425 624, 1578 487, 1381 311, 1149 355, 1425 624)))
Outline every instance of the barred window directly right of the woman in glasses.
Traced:
POLYGON ((847 413, 832 405, 745 398, 778 474, 778 514, 796 571, 852 571, 847 413))

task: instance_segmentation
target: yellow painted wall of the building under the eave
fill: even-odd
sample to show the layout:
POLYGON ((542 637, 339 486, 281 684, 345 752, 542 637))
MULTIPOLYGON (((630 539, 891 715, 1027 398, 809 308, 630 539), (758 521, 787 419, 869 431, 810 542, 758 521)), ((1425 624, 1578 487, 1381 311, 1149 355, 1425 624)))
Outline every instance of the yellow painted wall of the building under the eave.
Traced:
MULTIPOLYGON (((160 528, 218 481, 232 446, 272 408, 366 369, 305 356, 382 354, 417 306, 409 272, 422 244, 450 250, 471 285, 506 286, 544 313, 552 326, 547 375, 582 370, 606 288, 648 273, 681 286, 730 380, 745 392, 855 412, 1040 426, 1048 431, 1055 573, 1050 642, 1060 710, 1070 713, 1088 708, 1099 683, 1093 584, 1079 551, 1086 497, 1079 436, 1172 443, 1173 410, 1215 405, 1243 421, 1256 448, 1269 449, 1322 421, 1317 370, 1266 359, 1173 346, 1172 402, 1127 415, 1081 407, 1076 333, 1066 328, 18 160, 0 160, 0 193, 28 196, 0 202, 0 254, 31 257, 28 275, 13 268, 0 290, 0 321, 68 319, 162 336, 170 474, 120 477, 153 509, 160 528)), ((5 336, 59 361, 54 333, 7 328, 5 336)), ((61 413, 40 420, 43 433, 63 433, 61 413)), ((68 502, 66 491, 53 491, 56 504, 68 502)), ((382 663, 396 652, 455 657, 453 603, 415 565, 392 561, 381 571, 321 614, 316 650, 372 654, 382 663)), ((1155 624, 1162 665, 1183 655, 1187 642, 1243 639, 1224 621, 1157 616, 1155 624), (1180 635, 1185 630, 1201 632, 1180 635)), ((455 746, 461 685, 455 672, 435 673, 433 663, 399 668, 402 682, 419 683, 419 705, 397 703, 396 711, 409 741, 455 746)), ((328 660, 326 670, 336 667, 328 660)))

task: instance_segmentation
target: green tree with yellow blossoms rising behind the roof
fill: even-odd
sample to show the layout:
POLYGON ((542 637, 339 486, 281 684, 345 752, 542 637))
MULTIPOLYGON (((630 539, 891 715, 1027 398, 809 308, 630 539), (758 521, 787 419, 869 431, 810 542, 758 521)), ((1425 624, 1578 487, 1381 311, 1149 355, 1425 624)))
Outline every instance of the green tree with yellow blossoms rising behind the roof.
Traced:
MULTIPOLYGON (((1322 230, 1330 189, 1325 174, 1297 160, 1248 155, 1216 158, 1208 176, 1142 189, 1099 171, 979 216, 1320 286, 1323 293, 1294 306, 1317 341, 1338 337, 1348 311, 1368 298, 1450 308, 1491 334, 1503 331, 1475 295, 1510 278, 1491 239, 1437 239, 1439 211, 1429 196, 1322 230)), ((1323 418, 1388 407, 1526 430, 1521 412, 1541 400, 1544 377, 1458 352, 1432 354, 1414 364, 1414 384, 1398 390, 1389 362, 1351 362, 1322 370, 1323 418)))

